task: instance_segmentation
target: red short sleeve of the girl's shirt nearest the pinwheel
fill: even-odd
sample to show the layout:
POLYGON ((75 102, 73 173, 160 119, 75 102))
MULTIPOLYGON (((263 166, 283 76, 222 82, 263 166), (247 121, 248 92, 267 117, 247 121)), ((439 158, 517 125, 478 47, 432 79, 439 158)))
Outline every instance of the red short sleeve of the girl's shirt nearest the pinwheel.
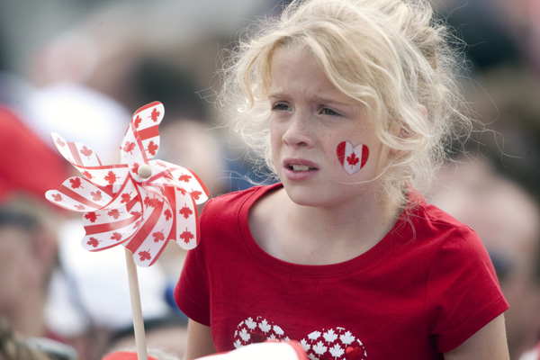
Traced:
POLYGON ((208 275, 203 256, 205 241, 206 211, 211 206, 207 202, 201 215, 201 241, 193 250, 188 250, 182 273, 175 286, 175 302, 184 314, 202 325, 210 326, 210 291, 208 275))

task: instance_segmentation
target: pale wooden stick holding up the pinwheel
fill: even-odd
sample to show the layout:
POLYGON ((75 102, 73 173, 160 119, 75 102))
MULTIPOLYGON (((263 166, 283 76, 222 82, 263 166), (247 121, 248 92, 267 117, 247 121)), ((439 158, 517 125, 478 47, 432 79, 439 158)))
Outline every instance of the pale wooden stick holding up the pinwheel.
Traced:
POLYGON ((146 336, 144 333, 144 321, 142 318, 142 307, 140 306, 139 279, 137 277, 137 266, 133 261, 133 254, 125 248, 126 266, 128 268, 128 282, 130 284, 131 313, 133 314, 133 330, 135 332, 135 344, 137 346, 137 358, 148 360, 146 347, 146 336))

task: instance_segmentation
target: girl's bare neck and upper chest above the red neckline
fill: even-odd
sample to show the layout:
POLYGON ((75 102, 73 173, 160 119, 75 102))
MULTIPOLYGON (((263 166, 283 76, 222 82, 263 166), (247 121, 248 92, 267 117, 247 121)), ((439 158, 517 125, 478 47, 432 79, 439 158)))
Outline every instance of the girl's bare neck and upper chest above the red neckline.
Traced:
POLYGON ((399 206, 383 202, 375 193, 357 202, 319 208, 292 202, 281 189, 264 198, 254 212, 270 215, 258 218, 262 222, 252 217, 250 226, 257 243, 270 255, 297 264, 328 265, 374 247, 392 229, 400 212, 399 206))

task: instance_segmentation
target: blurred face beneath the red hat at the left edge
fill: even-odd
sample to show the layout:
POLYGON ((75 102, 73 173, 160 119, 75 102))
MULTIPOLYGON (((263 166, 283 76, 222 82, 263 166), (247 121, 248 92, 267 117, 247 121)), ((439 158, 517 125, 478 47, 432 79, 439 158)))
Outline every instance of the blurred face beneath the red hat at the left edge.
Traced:
POLYGON ((49 338, 45 319, 58 245, 51 211, 31 196, 0 203, 0 315, 24 336, 49 338))

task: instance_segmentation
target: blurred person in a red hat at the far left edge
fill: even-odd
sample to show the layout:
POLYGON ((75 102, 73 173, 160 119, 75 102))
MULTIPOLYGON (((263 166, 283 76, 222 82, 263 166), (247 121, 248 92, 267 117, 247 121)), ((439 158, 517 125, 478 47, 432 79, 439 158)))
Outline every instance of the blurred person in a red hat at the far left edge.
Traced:
POLYGON ((0 314, 24 335, 57 338, 45 319, 58 265, 56 209, 44 199, 67 176, 58 154, 0 104, 0 314))

